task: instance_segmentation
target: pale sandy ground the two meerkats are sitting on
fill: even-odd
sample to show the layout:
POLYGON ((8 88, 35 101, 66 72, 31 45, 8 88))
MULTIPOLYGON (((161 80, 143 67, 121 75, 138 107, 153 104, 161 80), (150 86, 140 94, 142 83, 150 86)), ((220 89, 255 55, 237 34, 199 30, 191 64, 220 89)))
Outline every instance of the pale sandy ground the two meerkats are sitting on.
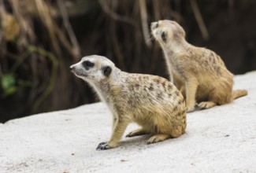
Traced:
POLYGON ((235 82, 247 97, 187 114, 186 134, 152 145, 96 151, 111 133, 103 103, 0 123, 0 172, 256 172, 256 72, 235 82))

